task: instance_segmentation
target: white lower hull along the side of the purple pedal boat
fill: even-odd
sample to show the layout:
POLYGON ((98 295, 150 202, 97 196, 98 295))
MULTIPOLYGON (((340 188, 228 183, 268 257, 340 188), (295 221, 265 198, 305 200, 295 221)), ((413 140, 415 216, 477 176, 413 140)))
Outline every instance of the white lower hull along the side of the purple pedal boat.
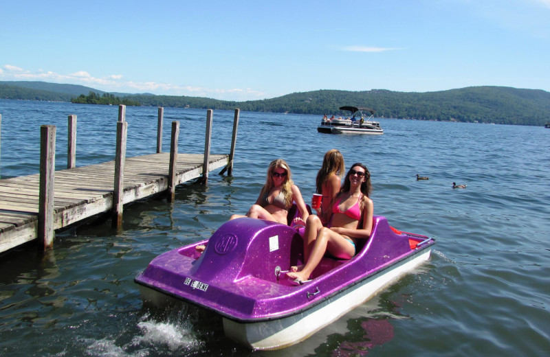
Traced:
MULTIPOLYGON (((399 275, 414 269, 429 257, 430 249, 427 249, 426 253, 421 253, 412 260, 398 263, 398 266, 388 268, 379 275, 344 290, 333 299, 294 316, 256 323, 238 323, 224 317, 225 336, 254 349, 279 349, 294 345, 360 306, 378 290, 397 279, 399 275)), ((311 284, 311 292, 314 292, 315 281, 307 284, 311 284)))

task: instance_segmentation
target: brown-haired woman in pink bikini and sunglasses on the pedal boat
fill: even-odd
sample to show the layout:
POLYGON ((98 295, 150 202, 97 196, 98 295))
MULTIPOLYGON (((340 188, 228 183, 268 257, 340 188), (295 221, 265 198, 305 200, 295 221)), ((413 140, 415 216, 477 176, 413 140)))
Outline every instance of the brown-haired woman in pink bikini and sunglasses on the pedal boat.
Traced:
POLYGON ((307 281, 327 251, 338 259, 351 259, 356 253, 355 241, 368 239, 371 235, 374 206, 370 195, 371 174, 362 163, 354 163, 344 179, 340 194, 334 199, 327 227, 323 227, 318 216, 307 218, 305 266, 293 266, 287 277, 298 284, 307 281))

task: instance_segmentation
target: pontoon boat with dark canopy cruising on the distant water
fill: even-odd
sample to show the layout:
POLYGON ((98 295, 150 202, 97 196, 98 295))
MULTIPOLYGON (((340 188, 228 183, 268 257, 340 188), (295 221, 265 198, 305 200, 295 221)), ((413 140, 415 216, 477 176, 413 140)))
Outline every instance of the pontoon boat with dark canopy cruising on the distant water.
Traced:
POLYGON ((384 130, 380 127, 380 122, 374 122, 375 111, 371 108, 358 108, 355 106, 340 106, 341 111, 350 111, 351 117, 342 119, 322 118, 321 125, 317 127, 318 133, 328 134, 374 134, 382 135, 384 130), (370 113, 369 117, 365 113, 370 113), (358 119, 359 118, 359 119, 358 119))

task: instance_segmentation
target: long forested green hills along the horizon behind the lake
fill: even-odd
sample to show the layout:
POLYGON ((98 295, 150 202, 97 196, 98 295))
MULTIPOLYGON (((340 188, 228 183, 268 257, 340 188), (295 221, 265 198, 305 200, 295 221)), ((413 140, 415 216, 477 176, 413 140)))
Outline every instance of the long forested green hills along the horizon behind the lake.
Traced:
MULTIPOLYGON (((45 82, 0 82, 0 99, 52 100, 69 102, 80 94, 103 91, 73 84, 45 82), (21 84, 26 84, 23 87, 21 84), (80 88, 78 88, 80 87, 80 88), (70 92, 70 93, 69 93, 70 92)), ((230 102, 205 97, 111 93, 145 106, 228 109, 338 115, 340 106, 373 108, 375 117, 424 120, 456 120, 543 126, 550 121, 550 93, 511 87, 467 87, 437 92, 320 90, 292 93, 266 100, 230 102)))

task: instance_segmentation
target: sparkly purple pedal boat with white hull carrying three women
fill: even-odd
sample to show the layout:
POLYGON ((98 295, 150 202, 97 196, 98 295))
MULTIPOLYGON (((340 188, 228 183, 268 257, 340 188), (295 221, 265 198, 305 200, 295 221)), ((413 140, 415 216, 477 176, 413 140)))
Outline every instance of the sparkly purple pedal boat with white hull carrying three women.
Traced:
POLYGON ((373 221, 371 237, 358 242, 355 257, 324 257, 302 285, 285 274, 303 264, 298 231, 252 218, 225 222, 210 240, 155 257, 135 282, 144 303, 162 306, 173 297, 219 314, 225 335, 238 343, 287 347, 430 257, 433 239, 399 232, 382 216, 373 221), (207 244, 202 254, 195 249, 199 244, 207 244))

